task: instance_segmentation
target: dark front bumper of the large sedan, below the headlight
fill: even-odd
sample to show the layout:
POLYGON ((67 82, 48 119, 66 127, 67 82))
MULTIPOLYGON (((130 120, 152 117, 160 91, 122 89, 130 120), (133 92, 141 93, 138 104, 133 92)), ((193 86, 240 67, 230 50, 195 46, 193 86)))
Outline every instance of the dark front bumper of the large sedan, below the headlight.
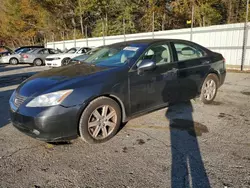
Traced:
POLYGON ((80 108, 80 106, 20 107, 15 111, 10 102, 10 115, 12 124, 33 138, 47 142, 65 141, 78 137, 80 108))

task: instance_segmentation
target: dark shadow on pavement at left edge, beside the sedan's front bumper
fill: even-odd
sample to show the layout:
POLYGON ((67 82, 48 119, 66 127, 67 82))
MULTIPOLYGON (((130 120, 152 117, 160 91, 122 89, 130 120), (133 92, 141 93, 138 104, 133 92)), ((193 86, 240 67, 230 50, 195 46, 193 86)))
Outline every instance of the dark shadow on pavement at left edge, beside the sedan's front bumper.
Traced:
POLYGON ((9 98, 14 90, 0 92, 0 128, 10 123, 9 98))

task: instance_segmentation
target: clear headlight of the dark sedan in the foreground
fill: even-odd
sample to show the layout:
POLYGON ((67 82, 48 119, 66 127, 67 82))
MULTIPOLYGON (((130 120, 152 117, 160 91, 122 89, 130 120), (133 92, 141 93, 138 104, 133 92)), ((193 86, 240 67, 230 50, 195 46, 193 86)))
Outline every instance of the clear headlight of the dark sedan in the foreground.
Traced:
POLYGON ((55 106, 59 105, 63 102, 63 100, 72 93, 72 89, 57 91, 53 93, 47 93, 44 95, 40 95, 30 101, 26 106, 27 107, 47 107, 47 106, 55 106))

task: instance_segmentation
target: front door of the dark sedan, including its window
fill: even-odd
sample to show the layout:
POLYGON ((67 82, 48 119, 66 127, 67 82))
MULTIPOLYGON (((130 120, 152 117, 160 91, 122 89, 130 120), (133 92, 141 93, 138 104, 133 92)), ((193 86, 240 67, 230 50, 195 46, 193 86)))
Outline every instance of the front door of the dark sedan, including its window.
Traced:
POLYGON ((170 44, 152 45, 136 66, 138 67, 144 59, 154 61, 156 68, 142 74, 138 74, 137 70, 129 72, 131 114, 164 106, 178 99, 179 95, 178 67, 173 63, 170 44))

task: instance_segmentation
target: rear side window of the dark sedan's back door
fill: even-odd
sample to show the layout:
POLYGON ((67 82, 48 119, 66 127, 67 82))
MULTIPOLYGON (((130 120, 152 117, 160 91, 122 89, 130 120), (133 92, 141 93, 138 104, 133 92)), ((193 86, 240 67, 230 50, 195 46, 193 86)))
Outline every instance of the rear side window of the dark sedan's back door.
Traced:
POLYGON ((174 46, 179 61, 196 59, 205 56, 205 52, 188 44, 174 43, 174 46))

